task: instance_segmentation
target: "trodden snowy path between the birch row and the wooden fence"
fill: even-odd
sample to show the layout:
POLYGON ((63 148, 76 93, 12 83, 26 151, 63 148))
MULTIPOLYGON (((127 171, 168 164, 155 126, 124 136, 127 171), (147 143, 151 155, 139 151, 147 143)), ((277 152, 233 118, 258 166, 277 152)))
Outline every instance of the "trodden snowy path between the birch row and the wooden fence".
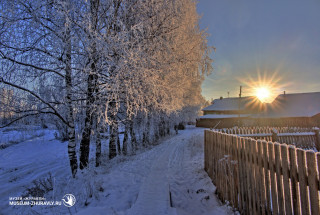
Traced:
POLYGON ((137 201, 127 211, 128 215, 231 213, 220 206, 213 195, 215 187, 203 168, 199 168, 203 159, 200 158, 201 164, 195 161, 198 158, 196 155, 202 154, 203 136, 200 132, 202 130, 188 130, 166 142, 166 150, 154 160, 137 201))

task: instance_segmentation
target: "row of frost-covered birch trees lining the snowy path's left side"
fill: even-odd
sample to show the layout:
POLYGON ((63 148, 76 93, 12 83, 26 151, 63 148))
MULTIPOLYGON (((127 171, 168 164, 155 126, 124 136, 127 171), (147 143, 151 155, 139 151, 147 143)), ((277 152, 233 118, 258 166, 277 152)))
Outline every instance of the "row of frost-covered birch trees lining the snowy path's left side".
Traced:
POLYGON ((194 120, 203 103, 211 48, 194 0, 4 0, 0 9, 1 83, 21 101, 11 123, 54 116, 73 176, 76 136, 80 168, 92 140, 99 166, 100 132, 109 131, 110 159, 134 153, 194 120))

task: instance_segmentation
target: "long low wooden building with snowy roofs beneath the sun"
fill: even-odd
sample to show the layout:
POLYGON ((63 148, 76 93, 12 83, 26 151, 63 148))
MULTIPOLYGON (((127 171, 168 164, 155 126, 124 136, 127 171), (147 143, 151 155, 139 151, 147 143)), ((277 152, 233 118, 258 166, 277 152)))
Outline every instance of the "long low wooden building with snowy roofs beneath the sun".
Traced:
POLYGON ((320 126, 320 92, 282 94, 272 103, 252 96, 220 98, 202 111, 198 127, 320 126))

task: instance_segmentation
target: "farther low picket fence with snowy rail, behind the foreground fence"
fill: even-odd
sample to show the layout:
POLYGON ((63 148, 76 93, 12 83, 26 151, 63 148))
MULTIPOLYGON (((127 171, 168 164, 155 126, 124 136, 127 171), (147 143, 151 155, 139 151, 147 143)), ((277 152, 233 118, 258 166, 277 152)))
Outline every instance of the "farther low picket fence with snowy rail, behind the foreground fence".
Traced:
POLYGON ((302 149, 316 149, 320 152, 318 128, 298 127, 239 127, 216 129, 222 133, 251 137, 255 140, 266 140, 295 145, 302 149))

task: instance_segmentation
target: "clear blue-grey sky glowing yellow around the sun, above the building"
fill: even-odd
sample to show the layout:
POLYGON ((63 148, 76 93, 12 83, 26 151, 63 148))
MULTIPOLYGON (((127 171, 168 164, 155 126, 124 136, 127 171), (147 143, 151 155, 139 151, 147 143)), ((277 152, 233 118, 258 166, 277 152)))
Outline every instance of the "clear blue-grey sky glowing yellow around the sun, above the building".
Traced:
POLYGON ((199 0, 197 10, 216 48, 206 99, 238 96, 240 85, 252 95, 259 76, 274 94, 320 91, 319 0, 199 0))

